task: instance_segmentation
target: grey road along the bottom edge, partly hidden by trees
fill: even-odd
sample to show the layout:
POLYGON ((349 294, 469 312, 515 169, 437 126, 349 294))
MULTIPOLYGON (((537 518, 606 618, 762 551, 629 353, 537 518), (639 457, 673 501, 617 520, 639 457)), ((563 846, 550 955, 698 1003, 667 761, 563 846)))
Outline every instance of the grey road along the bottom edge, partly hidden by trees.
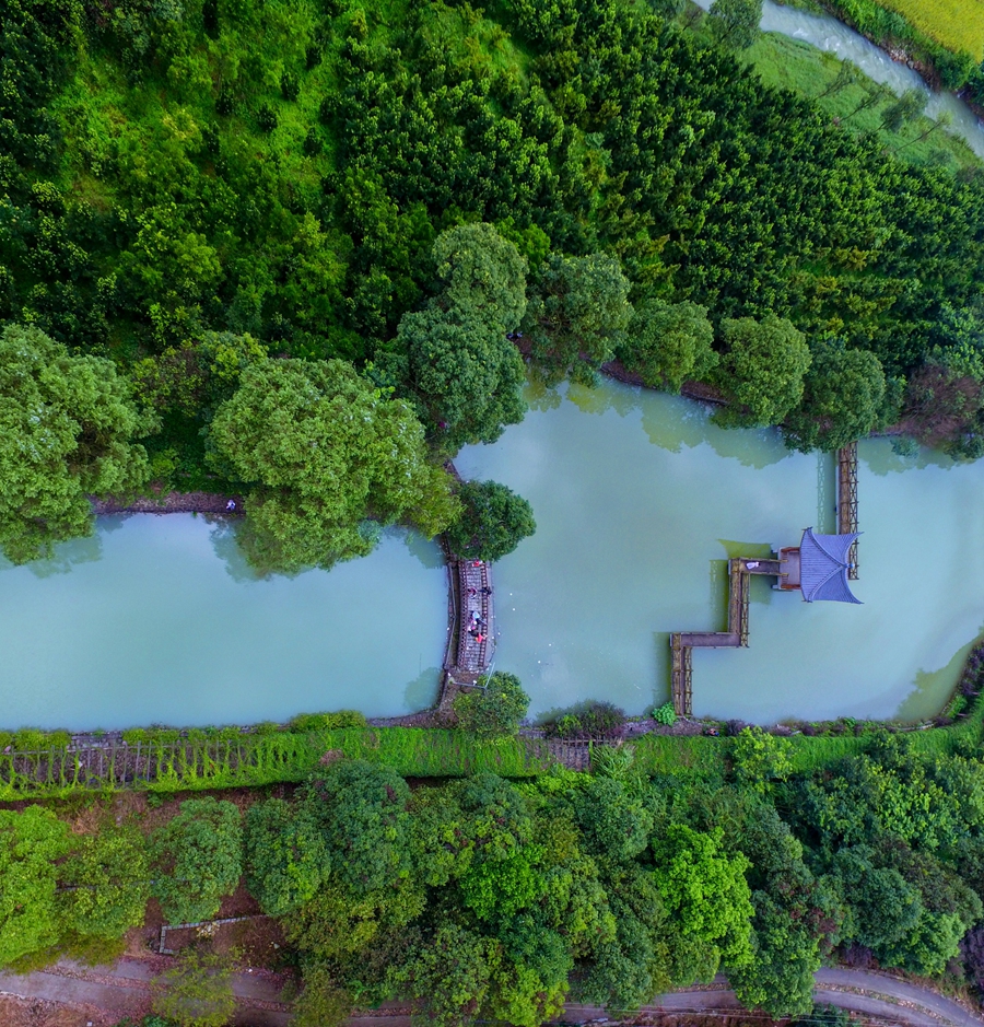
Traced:
MULTIPOLYGON (((63 960, 50 970, 23 977, 0 973, 0 992, 23 999, 93 1005, 122 1017, 147 1011, 150 982, 154 976, 154 969, 139 959, 121 959, 115 967, 101 967, 98 970, 63 960)), ((642 1012, 740 1010, 735 993, 725 985, 721 978, 718 987, 712 990, 687 989, 659 995, 642 1012)), ((238 1027, 286 1027, 290 1014, 279 1002, 279 985, 274 982, 259 975, 236 973, 233 976, 233 991, 241 1000, 235 1019, 238 1027)), ((817 1002, 878 1016, 906 1027, 984 1027, 984 1016, 968 1012, 935 991, 885 973, 845 968, 819 970, 813 997, 817 1002)), ((578 1024, 606 1017, 616 1018, 598 1007, 571 1004, 562 1023, 578 1024)), ((353 1016, 349 1024, 350 1027, 410 1027, 410 1017, 397 1010, 380 1010, 353 1016)))

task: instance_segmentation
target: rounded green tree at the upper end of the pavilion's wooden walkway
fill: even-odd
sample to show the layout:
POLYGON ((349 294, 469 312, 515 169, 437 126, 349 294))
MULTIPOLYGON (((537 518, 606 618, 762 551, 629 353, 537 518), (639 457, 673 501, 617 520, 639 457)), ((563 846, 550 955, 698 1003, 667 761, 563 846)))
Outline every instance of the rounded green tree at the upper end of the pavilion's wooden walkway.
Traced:
POLYGON ((834 342, 812 347, 803 400, 786 416, 783 437, 794 450, 839 450, 877 424, 886 398, 881 361, 867 350, 834 342))

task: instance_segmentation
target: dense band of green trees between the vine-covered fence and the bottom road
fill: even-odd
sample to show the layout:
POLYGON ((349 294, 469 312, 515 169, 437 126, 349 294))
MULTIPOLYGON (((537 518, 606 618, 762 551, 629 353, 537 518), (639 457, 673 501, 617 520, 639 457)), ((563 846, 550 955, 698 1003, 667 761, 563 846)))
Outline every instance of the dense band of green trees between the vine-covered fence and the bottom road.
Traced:
MULTIPOLYGON (((82 884, 105 936, 121 935, 134 903, 116 887, 122 844, 134 875, 150 859, 184 894, 188 867, 154 864, 154 852, 165 836, 204 851, 190 825, 207 822, 246 838, 245 880, 300 968, 301 1024, 412 999, 438 1023, 535 1025, 564 1001, 623 1012, 718 970, 749 1008, 808 1017, 817 968, 859 953, 976 987, 980 743, 936 735, 950 743, 930 752, 925 735, 874 731, 809 765, 797 749, 822 739, 742 728, 698 739, 721 759, 690 766, 657 769, 640 739, 607 748, 594 773, 554 765, 525 782, 484 771, 412 789, 385 765, 340 757, 292 797, 253 796, 245 814, 242 796, 176 801, 155 825, 117 814, 122 833, 98 856, 92 828, 68 829, 78 804, 4 810, 14 915, 30 912, 32 927, 10 930, 13 908, 3 912, 0 938, 17 941, 2 959, 40 965, 70 950, 80 921, 61 897, 82 884), (108 867, 102 882, 96 863, 108 867)), ((238 883, 231 868, 215 895, 238 883)), ((200 941, 159 982, 155 1008, 222 1023, 229 967, 200 941)))

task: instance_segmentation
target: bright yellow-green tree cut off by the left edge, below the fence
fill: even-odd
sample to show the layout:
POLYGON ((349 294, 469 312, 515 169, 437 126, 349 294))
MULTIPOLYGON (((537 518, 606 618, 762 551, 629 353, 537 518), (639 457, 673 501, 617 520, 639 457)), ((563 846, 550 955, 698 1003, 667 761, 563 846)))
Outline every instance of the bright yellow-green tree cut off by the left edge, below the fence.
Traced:
POLYGON ((0 966, 58 941, 56 861, 69 849, 68 828, 49 810, 0 809, 0 966))

